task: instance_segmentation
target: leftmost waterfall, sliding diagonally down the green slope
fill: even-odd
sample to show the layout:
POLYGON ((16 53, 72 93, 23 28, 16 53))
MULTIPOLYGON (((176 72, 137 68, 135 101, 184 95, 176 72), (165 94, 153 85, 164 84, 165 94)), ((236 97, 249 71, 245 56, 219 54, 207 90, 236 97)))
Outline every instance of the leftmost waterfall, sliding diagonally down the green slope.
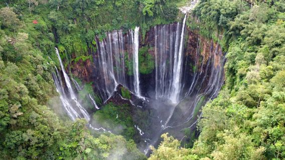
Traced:
MULTIPOLYGON (((59 59, 59 62, 60 62, 60 67, 61 67, 61 70, 62 70, 62 73, 63 73, 63 76, 64 76, 64 80, 65 80, 65 84, 68 88, 68 93, 70 95, 70 98, 72 99, 72 101, 76 104, 76 106, 78 107, 80 113, 83 115, 83 117, 89 121, 90 120, 90 117, 89 117, 89 114, 88 112, 84 109, 84 107, 79 103, 79 101, 77 100, 76 98, 76 95, 72 89, 72 86, 71 86, 71 82, 70 82, 70 79, 68 77, 68 75, 66 74, 65 70, 64 70, 64 67, 63 67, 63 63, 61 61, 61 57, 59 55, 59 52, 58 52, 58 49, 56 49, 56 54, 57 54, 57 57, 59 59)), ((61 88, 63 88, 63 86, 61 85, 61 88)), ((73 111, 75 111, 75 109, 73 108, 73 111)), ((76 111, 73 113, 73 114, 76 114, 76 115, 79 115, 79 113, 77 113, 76 111)), ((78 116, 76 116, 78 117, 78 116)), ((74 120, 74 118, 72 117, 72 119, 74 120)))

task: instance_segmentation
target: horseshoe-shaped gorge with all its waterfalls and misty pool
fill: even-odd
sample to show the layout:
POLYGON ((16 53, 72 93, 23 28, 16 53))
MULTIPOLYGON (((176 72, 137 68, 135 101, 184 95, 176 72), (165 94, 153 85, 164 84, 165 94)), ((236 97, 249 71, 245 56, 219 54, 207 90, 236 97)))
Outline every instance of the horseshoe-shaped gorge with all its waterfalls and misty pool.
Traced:
MULTIPOLYGON (((106 38, 101 40, 95 36, 92 59, 69 66, 73 76, 92 83, 94 95, 86 96, 94 104, 89 114, 108 103, 126 103, 131 108, 134 136, 140 135, 135 141, 146 153, 164 132, 182 138, 185 129, 195 131, 199 110, 217 96, 224 82, 225 53, 221 46, 193 32, 185 25, 186 18, 187 14, 182 22, 156 25, 144 39, 139 27, 124 33, 106 32, 106 38), (131 94, 127 99, 131 103, 122 92, 131 94), (94 101, 94 96, 101 101, 94 101), (139 112, 147 117, 138 118, 139 112)), ((56 51, 60 58, 57 48, 56 51)), ((53 75, 69 116, 85 118, 90 126, 103 131, 117 132, 98 124, 96 117, 90 119, 78 102, 65 103, 76 99, 70 87, 78 83, 71 81, 61 66, 63 78, 57 69, 53 75)))

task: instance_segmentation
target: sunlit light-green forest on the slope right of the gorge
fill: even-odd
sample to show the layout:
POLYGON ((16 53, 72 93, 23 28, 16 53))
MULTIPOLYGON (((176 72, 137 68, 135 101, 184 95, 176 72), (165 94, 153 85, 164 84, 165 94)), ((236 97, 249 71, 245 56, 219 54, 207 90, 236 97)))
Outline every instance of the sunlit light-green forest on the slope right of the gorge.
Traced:
POLYGON ((225 87, 203 107, 191 152, 213 159, 284 158, 282 13, 270 2, 248 8, 246 1, 205 0, 195 14, 201 32, 223 32, 223 39, 207 35, 229 47, 225 87))

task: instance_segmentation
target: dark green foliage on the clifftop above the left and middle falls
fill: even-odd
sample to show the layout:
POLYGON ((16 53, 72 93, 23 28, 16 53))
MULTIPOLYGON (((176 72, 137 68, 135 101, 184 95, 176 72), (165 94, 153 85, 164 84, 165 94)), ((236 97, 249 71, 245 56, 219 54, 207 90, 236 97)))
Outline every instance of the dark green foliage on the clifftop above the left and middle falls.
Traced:
POLYGON ((178 9, 173 1, 51 0, 39 4, 32 12, 44 17, 48 14, 45 22, 68 54, 88 56, 87 48, 94 44, 95 35, 102 40, 106 31, 128 30, 134 26, 146 26, 144 29, 148 29, 156 24, 175 21, 178 9))

